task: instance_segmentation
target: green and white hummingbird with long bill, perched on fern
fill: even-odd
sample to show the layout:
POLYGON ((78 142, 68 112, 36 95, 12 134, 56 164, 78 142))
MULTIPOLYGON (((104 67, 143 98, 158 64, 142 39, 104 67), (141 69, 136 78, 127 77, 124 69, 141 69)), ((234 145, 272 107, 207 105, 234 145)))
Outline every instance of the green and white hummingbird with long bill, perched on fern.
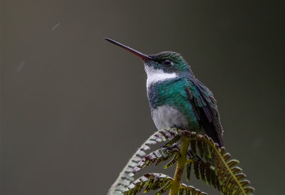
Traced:
POLYGON ((190 65, 173 51, 146 55, 104 38, 140 58, 147 73, 147 98, 158 130, 176 127, 208 135, 224 146, 222 125, 213 93, 193 74, 190 65))

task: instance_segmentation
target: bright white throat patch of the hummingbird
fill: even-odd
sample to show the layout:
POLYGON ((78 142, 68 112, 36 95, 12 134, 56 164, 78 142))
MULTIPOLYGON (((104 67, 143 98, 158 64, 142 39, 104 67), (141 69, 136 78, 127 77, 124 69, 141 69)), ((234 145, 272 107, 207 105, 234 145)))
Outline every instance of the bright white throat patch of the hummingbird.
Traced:
POLYGON ((163 70, 157 70, 148 65, 145 65, 145 72, 147 73, 147 88, 157 81, 177 78, 176 73, 163 73, 163 70))

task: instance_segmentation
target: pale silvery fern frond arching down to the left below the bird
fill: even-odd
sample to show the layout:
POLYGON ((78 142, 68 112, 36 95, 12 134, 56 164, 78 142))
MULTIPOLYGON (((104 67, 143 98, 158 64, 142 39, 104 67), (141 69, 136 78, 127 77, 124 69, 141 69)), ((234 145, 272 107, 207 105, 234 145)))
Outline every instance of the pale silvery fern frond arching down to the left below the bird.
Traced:
POLYGON ((177 135, 181 135, 181 132, 176 128, 162 129, 151 135, 137 150, 137 152, 133 154, 133 157, 130 158, 123 171, 120 172, 118 179, 116 179, 114 184, 110 187, 108 194, 123 194, 123 191, 125 191, 125 189, 135 181, 133 174, 136 169, 135 167, 137 167, 138 162, 146 156, 145 152, 150 149, 150 146, 159 142, 169 141, 169 144, 177 142, 175 141, 177 139, 177 135))

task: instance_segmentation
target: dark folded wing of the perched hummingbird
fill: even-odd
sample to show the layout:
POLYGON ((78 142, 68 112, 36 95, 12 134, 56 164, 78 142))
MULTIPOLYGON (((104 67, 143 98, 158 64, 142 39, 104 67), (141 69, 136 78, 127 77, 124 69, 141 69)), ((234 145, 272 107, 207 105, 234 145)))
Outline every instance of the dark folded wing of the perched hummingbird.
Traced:
POLYGON ((205 134, 222 147, 224 145, 222 141, 223 130, 219 121, 219 111, 214 95, 196 78, 187 78, 185 90, 205 134))

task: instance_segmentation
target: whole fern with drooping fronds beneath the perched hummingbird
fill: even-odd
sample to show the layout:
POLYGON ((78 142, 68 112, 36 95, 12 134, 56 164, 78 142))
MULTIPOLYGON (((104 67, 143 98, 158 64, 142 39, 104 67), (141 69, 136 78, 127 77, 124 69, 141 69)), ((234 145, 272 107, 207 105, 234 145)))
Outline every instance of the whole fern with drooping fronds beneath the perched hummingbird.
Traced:
POLYGON ((179 180, 177 180, 176 172, 175 180, 164 174, 145 174, 135 180, 134 174, 140 172, 144 167, 160 164, 170 158, 172 159, 165 165, 165 168, 178 162, 177 167, 180 167, 181 170, 186 169, 187 181, 190 180, 192 169, 197 179, 214 186, 222 194, 250 194, 254 191, 254 188, 249 186, 249 181, 245 179, 242 169, 237 167, 239 161, 231 159, 231 155, 225 152, 224 147, 219 148, 218 144, 214 143, 207 135, 197 135, 195 132, 172 128, 155 132, 142 144, 111 186, 108 194, 138 194, 143 189, 144 192, 157 190, 157 194, 162 194, 169 189, 174 190, 175 193, 179 192, 178 194, 204 194, 192 186, 180 184, 183 172, 181 170, 179 180), (188 140, 188 142, 183 141, 183 139, 188 140), (175 144, 178 141, 180 141, 181 146, 175 144), (150 145, 158 142, 166 143, 160 149, 146 154, 150 145), (182 150, 183 143, 187 143, 187 147, 183 147, 182 150), (184 152, 181 152, 180 149, 184 152))

